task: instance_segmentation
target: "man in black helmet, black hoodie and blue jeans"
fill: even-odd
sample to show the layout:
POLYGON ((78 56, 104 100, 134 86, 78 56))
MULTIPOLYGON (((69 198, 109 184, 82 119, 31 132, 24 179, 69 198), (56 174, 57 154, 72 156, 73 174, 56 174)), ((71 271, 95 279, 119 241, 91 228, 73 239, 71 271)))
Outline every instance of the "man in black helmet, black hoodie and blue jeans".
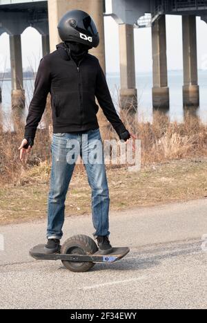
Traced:
POLYGON ((130 133, 121 122, 110 97, 105 75, 98 59, 88 50, 99 45, 99 34, 92 18, 81 10, 63 15, 58 25, 62 42, 57 50, 41 59, 34 83, 34 95, 30 102, 24 139, 19 147, 23 160, 34 144, 37 126, 51 94, 52 106, 52 169, 48 195, 48 253, 58 252, 62 237, 66 194, 77 156, 72 142, 77 142, 79 153, 86 167, 92 189, 92 221, 94 236, 101 254, 112 252, 108 240, 109 195, 103 145, 97 122, 97 98, 106 118, 121 140, 127 141, 130 133), (87 140, 86 140, 87 135, 87 140), (83 140, 83 138, 85 138, 83 140), (99 163, 88 158, 99 145, 99 163), (68 157, 69 156, 69 157, 68 157), (99 156, 100 157, 100 156, 99 156))

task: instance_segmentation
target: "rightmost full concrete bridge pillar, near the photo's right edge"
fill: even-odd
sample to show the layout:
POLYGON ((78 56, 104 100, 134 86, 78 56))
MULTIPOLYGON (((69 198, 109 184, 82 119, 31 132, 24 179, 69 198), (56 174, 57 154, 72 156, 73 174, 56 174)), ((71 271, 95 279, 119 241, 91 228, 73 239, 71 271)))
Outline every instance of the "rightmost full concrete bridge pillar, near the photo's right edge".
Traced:
POLYGON ((199 106, 199 86, 197 84, 197 39, 196 17, 182 17, 183 59, 184 59, 184 107, 199 106))

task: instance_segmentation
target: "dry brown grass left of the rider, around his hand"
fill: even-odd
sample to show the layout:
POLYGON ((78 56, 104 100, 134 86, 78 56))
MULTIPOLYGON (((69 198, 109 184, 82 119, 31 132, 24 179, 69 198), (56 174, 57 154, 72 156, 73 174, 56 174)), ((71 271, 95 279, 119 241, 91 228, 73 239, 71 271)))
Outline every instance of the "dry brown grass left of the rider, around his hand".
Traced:
MULTIPOLYGON (((43 121, 40 124, 40 129, 37 129, 35 145, 32 148, 32 154, 28 158, 28 163, 23 165, 19 160, 18 147, 23 139, 24 124, 14 120, 15 131, 3 131, 0 127, 0 185, 12 184, 21 185, 22 178, 26 172, 32 172, 31 168, 41 165, 43 161, 50 163, 50 131, 48 124, 45 122, 48 116, 50 102, 48 100, 46 112, 44 113, 43 121), (47 127, 43 127, 46 124, 47 127)), ((48 117, 50 120, 50 116, 48 117)))

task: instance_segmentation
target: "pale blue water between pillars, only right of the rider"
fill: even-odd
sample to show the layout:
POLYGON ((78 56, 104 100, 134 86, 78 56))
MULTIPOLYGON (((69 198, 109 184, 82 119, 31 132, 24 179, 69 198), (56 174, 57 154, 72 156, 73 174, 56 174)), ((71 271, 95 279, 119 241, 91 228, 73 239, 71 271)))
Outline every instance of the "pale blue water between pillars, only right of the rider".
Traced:
MULTIPOLYGON (((207 122, 207 72, 198 71, 199 77, 199 101, 197 110, 202 122, 207 122)), ((119 88, 119 75, 108 75, 108 85, 114 102, 117 102, 117 89, 119 88)), ((152 73, 141 73, 136 77, 138 96, 138 118, 144 121, 152 121, 152 73)), ((183 71, 168 71, 168 86, 170 89, 170 121, 182 122, 183 110, 183 71)))

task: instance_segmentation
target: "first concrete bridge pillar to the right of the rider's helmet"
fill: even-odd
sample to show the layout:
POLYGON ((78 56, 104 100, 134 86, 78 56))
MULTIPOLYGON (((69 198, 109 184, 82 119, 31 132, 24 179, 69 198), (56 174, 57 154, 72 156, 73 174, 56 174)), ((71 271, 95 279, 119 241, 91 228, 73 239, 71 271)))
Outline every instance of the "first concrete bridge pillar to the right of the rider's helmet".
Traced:
POLYGON ((137 89, 135 79, 134 27, 119 24, 119 57, 121 77, 121 109, 137 109, 137 89))

